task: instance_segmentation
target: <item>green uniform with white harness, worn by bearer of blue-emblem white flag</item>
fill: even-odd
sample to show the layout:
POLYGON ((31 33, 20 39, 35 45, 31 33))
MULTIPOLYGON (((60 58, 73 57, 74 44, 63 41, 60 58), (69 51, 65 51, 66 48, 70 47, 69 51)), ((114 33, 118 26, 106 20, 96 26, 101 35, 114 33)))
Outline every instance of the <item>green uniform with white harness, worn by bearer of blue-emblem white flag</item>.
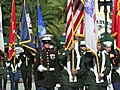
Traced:
POLYGON ((104 74, 104 76, 100 79, 98 78, 97 66, 95 65, 96 61, 94 61, 95 57, 90 52, 86 53, 85 57, 86 57, 85 65, 89 70, 87 79, 85 81, 85 84, 88 86, 88 90, 107 90, 108 85, 107 75, 110 72, 110 58, 108 57, 107 54, 104 54, 105 61, 103 65, 102 56, 98 56, 100 72, 104 74), (102 69, 102 67, 106 68, 102 69))

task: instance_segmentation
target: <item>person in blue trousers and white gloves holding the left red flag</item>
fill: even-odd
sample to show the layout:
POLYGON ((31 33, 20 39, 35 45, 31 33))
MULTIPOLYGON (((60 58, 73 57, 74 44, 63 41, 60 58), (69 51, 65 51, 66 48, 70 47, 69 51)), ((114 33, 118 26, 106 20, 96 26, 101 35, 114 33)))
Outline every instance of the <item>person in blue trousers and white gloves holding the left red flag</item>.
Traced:
POLYGON ((21 63, 22 62, 19 60, 18 55, 16 55, 16 51, 13 52, 12 59, 6 62, 10 75, 11 90, 18 90, 19 68, 21 63))

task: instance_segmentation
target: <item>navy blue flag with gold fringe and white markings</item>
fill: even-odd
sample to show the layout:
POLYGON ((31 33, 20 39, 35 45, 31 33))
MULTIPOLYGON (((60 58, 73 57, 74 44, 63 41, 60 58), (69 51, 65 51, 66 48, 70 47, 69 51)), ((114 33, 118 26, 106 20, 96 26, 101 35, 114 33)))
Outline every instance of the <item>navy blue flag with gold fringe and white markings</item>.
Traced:
POLYGON ((31 54, 36 54, 34 44, 34 35, 32 31, 31 19, 28 11, 28 3, 24 0, 21 17, 20 44, 31 51, 31 54))

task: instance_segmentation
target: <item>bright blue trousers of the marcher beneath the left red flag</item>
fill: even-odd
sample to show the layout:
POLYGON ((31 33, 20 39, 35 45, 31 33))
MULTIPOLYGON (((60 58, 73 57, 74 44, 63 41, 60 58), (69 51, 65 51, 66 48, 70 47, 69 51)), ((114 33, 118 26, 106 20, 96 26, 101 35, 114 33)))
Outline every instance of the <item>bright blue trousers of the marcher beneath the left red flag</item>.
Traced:
POLYGON ((18 90, 19 71, 16 71, 15 73, 9 71, 9 74, 10 74, 11 90, 18 90))

